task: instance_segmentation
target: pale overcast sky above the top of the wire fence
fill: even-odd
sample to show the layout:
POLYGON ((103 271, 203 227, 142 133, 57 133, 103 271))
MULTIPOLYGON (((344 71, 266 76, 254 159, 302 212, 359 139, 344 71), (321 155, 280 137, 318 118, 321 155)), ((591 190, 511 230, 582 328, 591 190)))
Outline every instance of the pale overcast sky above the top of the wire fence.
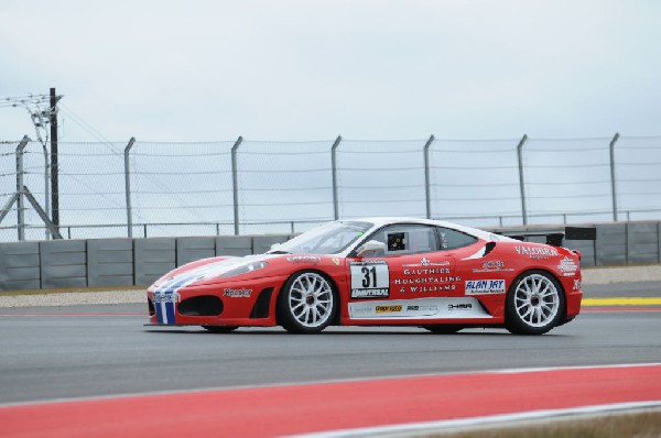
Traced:
MULTIPOLYGON (((661 2, 2 0, 0 98, 63 141, 661 134, 661 2), (74 120, 74 116, 79 119, 74 120)), ((32 138, 0 107, 0 140, 32 138)))

